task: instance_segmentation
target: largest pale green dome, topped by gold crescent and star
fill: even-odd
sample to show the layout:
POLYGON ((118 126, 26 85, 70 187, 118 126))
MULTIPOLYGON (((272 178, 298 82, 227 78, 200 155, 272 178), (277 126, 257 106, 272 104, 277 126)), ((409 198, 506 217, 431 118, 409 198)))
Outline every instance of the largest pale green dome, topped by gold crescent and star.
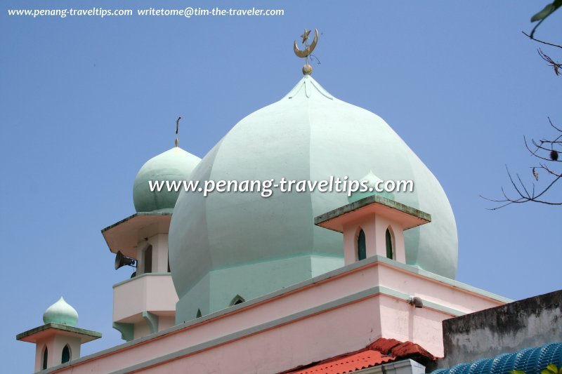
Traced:
MULTIPOLYGON (((457 227, 438 180, 383 119, 334 98, 309 75, 285 98, 237 123, 204 156, 191 178, 279 182, 347 175, 359 180, 371 168, 387 180, 413 180, 414 191, 396 194, 396 200, 431 214, 432 222, 405 232, 406 262, 454 278, 457 227)), ((273 281, 277 289, 299 281, 290 278, 294 267, 287 267, 284 279, 269 270, 259 273, 266 265, 274 269, 275 261, 322 257, 332 259, 332 264, 341 260, 343 266, 343 236, 315 226, 314 218, 347 203, 346 193, 318 189, 286 193, 273 189, 267 198, 259 193, 215 192, 204 197, 181 192, 169 234, 171 274, 179 298, 220 269, 250 269, 254 286, 247 286, 247 294, 251 294, 273 281)), ((333 268, 312 267, 308 274, 333 268)), ((250 270, 232 279, 249 276, 250 270)))

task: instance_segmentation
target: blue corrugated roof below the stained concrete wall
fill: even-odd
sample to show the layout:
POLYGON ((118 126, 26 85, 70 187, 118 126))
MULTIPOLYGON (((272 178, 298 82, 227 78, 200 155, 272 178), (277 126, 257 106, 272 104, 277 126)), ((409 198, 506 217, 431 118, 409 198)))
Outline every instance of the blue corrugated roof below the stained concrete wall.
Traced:
POLYGON ((435 370, 431 374, 509 374, 511 370, 540 374, 549 363, 562 366, 562 343, 525 348, 516 353, 504 353, 493 359, 479 359, 473 363, 459 363, 452 368, 435 370))

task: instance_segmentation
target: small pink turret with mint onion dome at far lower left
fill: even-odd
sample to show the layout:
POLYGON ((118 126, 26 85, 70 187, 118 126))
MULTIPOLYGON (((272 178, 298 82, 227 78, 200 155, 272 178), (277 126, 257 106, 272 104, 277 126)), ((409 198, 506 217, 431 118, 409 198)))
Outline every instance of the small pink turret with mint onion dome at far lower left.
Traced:
POLYGON ((35 343, 36 372, 79 359, 82 344, 101 338, 101 333, 76 327, 78 313, 62 297, 46 309, 43 322, 15 337, 35 343))

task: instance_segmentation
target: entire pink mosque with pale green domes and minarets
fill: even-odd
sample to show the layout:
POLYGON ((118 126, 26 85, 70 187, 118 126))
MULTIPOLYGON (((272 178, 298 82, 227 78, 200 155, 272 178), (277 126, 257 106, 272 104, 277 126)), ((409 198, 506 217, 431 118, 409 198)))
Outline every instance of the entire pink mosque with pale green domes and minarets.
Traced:
MULTIPOLYGON (((77 311, 61 298, 44 325, 16 337, 36 345, 34 371, 426 373, 443 367, 444 356, 449 366, 460 363, 450 360, 454 345, 444 338, 452 330, 443 326, 454 323, 444 321, 509 305, 455 281, 457 227, 443 188, 383 119, 313 79, 308 55, 318 32, 312 41, 310 33, 301 36, 302 50, 294 44, 306 63, 285 97, 238 122, 203 159, 176 138, 176 147, 138 171, 136 213, 102 230, 116 269, 136 266, 113 286, 113 327, 125 342, 81 357, 81 344, 101 334, 77 327, 77 311), (344 175, 370 186, 413 180, 415 188, 264 198, 149 187, 344 175)), ((552 344, 532 347, 546 352, 535 355, 537 365, 562 364, 562 344, 552 344)), ((457 371, 520 367, 466 365, 457 371)))

